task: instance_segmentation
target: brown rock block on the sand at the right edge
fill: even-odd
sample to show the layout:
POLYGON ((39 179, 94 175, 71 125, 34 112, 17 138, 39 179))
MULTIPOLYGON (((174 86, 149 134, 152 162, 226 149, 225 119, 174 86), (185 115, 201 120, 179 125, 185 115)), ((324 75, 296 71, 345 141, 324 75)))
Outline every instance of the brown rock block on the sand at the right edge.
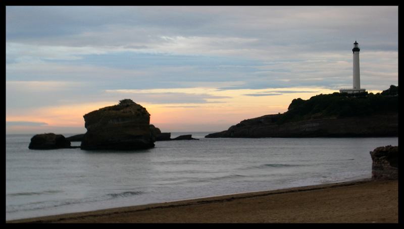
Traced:
POLYGON ((382 146, 370 151, 372 157, 372 179, 398 179, 398 146, 382 146))

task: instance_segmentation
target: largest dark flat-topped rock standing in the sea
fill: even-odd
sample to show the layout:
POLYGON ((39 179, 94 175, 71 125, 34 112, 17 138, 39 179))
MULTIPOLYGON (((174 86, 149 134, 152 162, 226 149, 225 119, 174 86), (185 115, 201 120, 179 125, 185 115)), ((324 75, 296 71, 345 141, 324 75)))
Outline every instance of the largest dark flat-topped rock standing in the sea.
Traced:
POLYGON ((130 99, 84 115, 85 128, 81 149, 133 150, 154 147, 150 133, 150 115, 130 99))

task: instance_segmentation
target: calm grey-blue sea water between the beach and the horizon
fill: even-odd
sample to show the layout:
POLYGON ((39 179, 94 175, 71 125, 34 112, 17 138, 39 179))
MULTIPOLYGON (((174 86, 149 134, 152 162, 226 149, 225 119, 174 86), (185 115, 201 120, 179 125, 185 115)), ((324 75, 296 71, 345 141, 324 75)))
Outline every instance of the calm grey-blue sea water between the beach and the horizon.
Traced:
POLYGON ((6 135, 6 220, 369 179, 369 152, 398 145, 398 137, 172 138, 182 134, 199 140, 30 150, 33 135, 6 135))

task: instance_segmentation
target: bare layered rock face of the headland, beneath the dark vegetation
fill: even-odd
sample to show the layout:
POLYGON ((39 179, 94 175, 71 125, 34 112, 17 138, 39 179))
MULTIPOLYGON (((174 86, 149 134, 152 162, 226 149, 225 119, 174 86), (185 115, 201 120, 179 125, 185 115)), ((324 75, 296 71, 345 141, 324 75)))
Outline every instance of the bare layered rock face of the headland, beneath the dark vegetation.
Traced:
POLYGON ((300 138, 398 136, 398 113, 367 117, 312 119, 278 125, 281 115, 244 120, 206 138, 300 138))

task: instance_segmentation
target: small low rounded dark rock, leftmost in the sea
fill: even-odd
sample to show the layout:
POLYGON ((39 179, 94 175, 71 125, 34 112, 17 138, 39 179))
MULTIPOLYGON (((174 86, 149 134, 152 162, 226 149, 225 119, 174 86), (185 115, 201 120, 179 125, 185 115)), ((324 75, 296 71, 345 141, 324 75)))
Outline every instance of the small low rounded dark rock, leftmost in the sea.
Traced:
POLYGON ((70 146, 70 141, 65 136, 54 133, 37 134, 31 138, 29 149, 62 149, 74 148, 70 146))

